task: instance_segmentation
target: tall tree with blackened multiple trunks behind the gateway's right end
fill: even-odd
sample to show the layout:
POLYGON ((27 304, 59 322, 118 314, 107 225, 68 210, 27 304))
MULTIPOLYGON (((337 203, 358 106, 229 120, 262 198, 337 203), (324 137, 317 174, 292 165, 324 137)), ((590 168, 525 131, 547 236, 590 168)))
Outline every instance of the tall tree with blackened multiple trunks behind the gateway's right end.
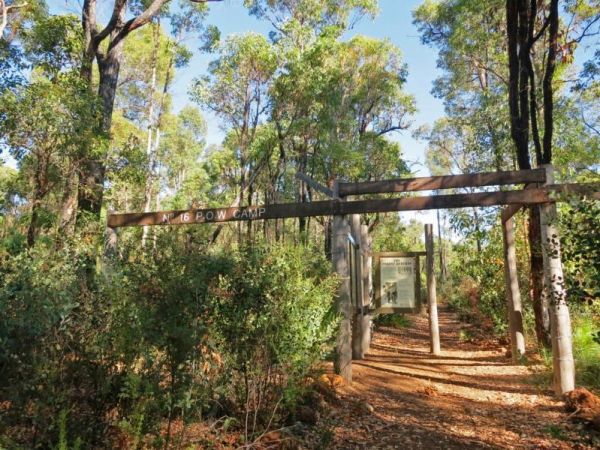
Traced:
MULTIPOLYGON (((578 40, 597 26, 592 3, 565 2, 562 24, 554 1, 428 1, 419 7, 415 23, 422 39, 440 50, 438 64, 444 74, 434 93, 444 99, 448 116, 429 136, 431 153, 443 152, 453 142, 454 161, 447 161, 448 168, 467 171, 529 169, 530 150, 537 164, 548 163, 556 144, 561 160, 570 160, 570 166, 589 161, 593 152, 579 155, 569 148, 581 139, 581 127, 571 126, 573 102, 561 89, 563 83, 552 80, 564 81, 578 40), (563 131, 558 140, 555 127, 563 131), (444 141, 445 134, 453 139, 444 141), (457 153, 465 154, 463 168, 455 164, 457 153)), ((588 137, 584 133, 583 139, 588 137)), ((540 342, 548 343, 537 208, 530 210, 528 224, 536 332, 540 342)))

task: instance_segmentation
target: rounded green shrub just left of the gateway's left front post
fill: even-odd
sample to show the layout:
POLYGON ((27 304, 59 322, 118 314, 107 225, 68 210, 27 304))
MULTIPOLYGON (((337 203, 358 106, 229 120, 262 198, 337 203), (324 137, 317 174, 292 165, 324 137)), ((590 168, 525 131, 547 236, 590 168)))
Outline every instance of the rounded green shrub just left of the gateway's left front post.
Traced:
POLYGON ((247 434, 267 426, 278 404, 293 408, 304 378, 330 350, 336 280, 315 255, 291 246, 245 249, 210 293, 213 330, 247 434))

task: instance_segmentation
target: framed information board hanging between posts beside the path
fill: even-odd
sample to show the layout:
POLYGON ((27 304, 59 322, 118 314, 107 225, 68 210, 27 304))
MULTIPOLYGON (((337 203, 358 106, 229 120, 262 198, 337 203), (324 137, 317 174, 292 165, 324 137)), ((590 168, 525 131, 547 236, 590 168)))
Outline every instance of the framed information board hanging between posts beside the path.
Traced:
POLYGON ((375 307, 380 314, 415 313, 421 307, 421 252, 375 253, 375 307))

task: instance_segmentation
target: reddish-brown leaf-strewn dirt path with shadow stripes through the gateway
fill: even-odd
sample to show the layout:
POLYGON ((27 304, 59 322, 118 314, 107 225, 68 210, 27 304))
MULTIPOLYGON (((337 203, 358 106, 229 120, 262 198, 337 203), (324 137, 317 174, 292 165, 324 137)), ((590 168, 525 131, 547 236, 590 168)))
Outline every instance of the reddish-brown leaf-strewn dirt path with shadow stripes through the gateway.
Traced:
POLYGON ((378 330, 366 359, 353 363, 352 386, 338 388, 342 404, 327 418, 329 448, 593 448, 497 341, 459 339, 465 325, 442 308, 442 355, 433 357, 427 318, 411 322, 378 330))

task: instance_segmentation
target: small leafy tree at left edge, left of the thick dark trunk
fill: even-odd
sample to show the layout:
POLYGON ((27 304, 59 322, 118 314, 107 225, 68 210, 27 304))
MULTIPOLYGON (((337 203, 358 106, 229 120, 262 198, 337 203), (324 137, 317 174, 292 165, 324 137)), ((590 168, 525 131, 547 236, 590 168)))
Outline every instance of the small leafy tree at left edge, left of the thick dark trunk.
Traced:
MULTIPOLYGON (((72 74, 71 74, 72 75, 72 74)), ((5 114, 0 124, 12 156, 19 163, 20 175, 31 186, 27 243, 32 246, 42 224, 43 204, 51 193, 65 192, 63 184, 80 148, 95 139, 88 124, 97 119, 99 109, 90 108, 90 99, 78 78, 61 76, 50 81, 40 77, 27 87, 3 96, 5 114)), ((62 208, 46 209, 51 216, 62 208)), ((46 221, 51 227, 53 221, 46 221)), ((63 224, 61 224, 63 225, 63 224)))

